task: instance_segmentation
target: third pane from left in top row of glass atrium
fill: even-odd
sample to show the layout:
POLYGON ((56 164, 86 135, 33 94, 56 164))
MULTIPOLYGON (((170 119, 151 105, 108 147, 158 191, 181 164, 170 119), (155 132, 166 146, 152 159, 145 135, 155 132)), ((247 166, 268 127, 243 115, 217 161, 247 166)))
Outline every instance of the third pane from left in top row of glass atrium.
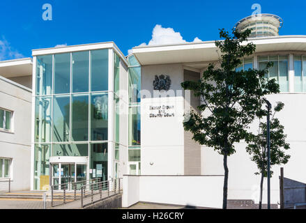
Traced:
POLYGON ((72 92, 89 91, 89 52, 72 53, 72 92))

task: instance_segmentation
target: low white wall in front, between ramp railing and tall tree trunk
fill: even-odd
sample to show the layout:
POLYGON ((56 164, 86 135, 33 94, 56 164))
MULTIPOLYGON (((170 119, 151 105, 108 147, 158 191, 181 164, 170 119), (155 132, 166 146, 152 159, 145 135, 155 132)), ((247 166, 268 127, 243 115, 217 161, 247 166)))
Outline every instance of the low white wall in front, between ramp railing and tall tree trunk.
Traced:
POLYGON ((144 201, 222 208, 222 182, 223 176, 124 176, 122 205, 144 201))

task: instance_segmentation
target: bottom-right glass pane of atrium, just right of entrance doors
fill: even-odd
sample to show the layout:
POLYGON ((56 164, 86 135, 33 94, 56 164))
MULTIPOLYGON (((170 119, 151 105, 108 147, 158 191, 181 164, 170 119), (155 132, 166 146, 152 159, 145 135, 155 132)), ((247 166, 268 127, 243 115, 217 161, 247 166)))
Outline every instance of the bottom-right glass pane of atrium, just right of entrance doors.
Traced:
MULTIPOLYGON (((90 169, 95 169, 95 178, 107 180, 107 143, 91 144, 90 169)), ((94 178, 90 174, 90 178, 94 178)))

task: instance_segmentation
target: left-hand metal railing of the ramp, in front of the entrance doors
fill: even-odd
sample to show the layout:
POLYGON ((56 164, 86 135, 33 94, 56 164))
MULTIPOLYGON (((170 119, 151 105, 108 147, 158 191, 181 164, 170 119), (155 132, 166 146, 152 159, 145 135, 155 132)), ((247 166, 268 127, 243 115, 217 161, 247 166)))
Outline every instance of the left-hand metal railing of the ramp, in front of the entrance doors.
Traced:
POLYGON ((51 207, 80 199, 80 192, 84 186, 86 187, 86 185, 99 182, 100 178, 94 178, 90 180, 80 180, 76 182, 51 185, 51 207))

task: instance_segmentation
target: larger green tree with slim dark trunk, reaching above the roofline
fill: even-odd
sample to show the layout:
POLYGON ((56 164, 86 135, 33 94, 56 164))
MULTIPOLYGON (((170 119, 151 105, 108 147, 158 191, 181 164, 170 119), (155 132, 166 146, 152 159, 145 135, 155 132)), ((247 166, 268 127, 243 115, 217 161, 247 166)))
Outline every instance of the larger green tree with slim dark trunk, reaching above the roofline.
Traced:
MULTIPOLYGON (((201 145, 214 148, 223 155, 224 185, 223 208, 227 208, 227 185, 229 169, 227 158, 235 153, 234 143, 247 137, 247 127, 257 113, 262 114, 263 95, 278 93, 279 85, 275 79, 266 79, 265 70, 236 71, 240 59, 254 53, 252 43, 242 44, 250 36, 250 30, 239 33, 220 29, 220 38, 215 41, 220 50, 220 66, 210 64, 199 81, 186 81, 183 89, 192 90, 200 97, 199 113, 190 112, 183 125, 193 134, 192 139, 201 145)), ((268 64, 269 66, 269 64, 268 64)), ((186 114, 185 114, 186 115, 186 114)))

